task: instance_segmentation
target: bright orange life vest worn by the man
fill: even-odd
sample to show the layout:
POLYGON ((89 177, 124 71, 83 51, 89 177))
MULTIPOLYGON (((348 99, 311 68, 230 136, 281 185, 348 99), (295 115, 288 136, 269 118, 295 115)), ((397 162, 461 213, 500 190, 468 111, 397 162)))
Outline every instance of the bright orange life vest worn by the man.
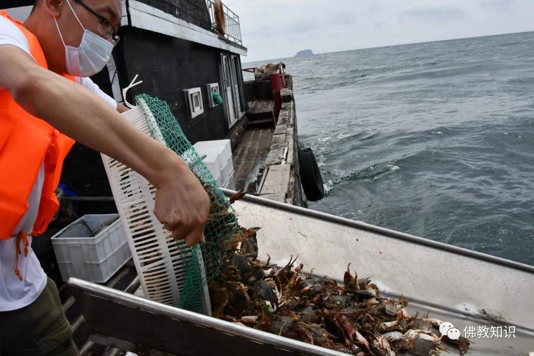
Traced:
MULTIPOLYGON (((0 16, 17 25, 28 39, 30 53, 37 64, 48 69, 37 37, 6 11, 0 11, 0 16)), ((64 76, 76 80, 73 76, 64 76)), ((46 230, 59 207, 55 191, 63 161, 73 144, 73 139, 28 114, 6 89, 0 89, 0 240, 18 233, 13 230, 28 209, 28 196, 43 160, 43 191, 32 234, 46 230)))

